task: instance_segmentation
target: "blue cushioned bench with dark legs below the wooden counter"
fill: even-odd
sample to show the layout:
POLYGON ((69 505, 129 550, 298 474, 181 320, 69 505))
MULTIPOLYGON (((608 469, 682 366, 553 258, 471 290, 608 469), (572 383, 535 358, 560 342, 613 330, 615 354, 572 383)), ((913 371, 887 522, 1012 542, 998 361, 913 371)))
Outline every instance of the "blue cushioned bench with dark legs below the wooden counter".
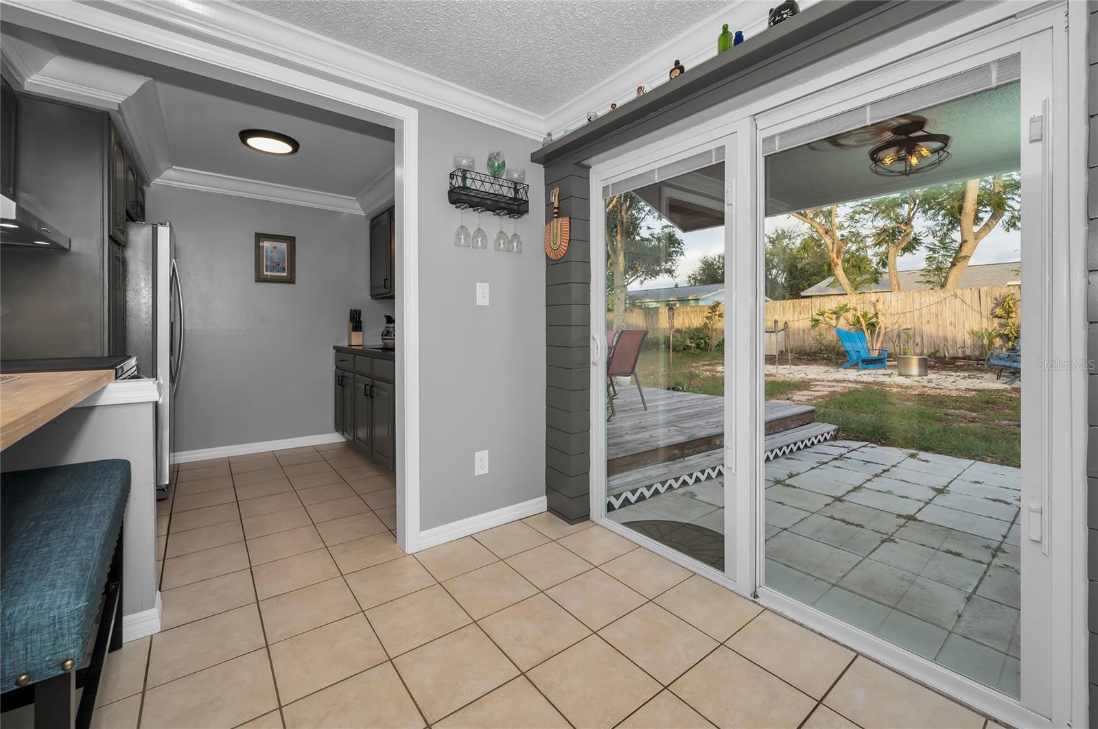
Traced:
POLYGON ((4 708, 34 702, 36 729, 90 726, 108 647, 122 647, 128 497, 130 461, 0 474, 0 692, 4 708), (101 596, 91 663, 77 671, 101 596))

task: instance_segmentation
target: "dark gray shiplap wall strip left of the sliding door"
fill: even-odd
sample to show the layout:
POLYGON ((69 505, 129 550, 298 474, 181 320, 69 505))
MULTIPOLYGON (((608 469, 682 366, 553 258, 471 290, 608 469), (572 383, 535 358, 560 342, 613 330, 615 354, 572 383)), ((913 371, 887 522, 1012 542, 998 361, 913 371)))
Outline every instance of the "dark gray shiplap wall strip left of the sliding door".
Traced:
POLYGON ((568 521, 590 515, 591 441, 591 203, 590 169, 546 168, 546 223, 552 191, 569 216, 568 253, 546 257, 546 500, 568 521))

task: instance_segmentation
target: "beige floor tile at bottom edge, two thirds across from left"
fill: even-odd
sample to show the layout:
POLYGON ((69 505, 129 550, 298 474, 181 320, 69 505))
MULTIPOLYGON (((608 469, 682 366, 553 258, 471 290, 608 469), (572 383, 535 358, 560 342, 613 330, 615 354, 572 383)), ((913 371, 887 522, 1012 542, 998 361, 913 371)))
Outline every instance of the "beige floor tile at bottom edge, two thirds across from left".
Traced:
POLYGON ((671 685, 718 727, 796 727, 816 702, 721 646, 671 685))

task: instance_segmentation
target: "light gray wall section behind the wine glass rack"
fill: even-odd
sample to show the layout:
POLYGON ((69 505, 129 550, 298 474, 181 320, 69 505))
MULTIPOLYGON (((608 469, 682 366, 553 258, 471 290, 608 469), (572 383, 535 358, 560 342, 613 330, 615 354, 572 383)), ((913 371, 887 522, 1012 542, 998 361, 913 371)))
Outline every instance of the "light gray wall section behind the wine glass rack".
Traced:
MULTIPOLYGON (((430 529, 546 493, 544 178, 529 161, 534 139, 425 108, 419 135, 419 526, 430 529), (489 250, 453 246, 452 156, 475 155, 483 170, 491 149, 526 169, 522 255, 492 250, 492 215, 481 218, 489 250), (474 304, 477 282, 491 287, 486 307, 474 304), (485 449, 489 473, 473 476, 473 452, 485 449)), ((474 231, 477 215, 466 225, 474 231)))

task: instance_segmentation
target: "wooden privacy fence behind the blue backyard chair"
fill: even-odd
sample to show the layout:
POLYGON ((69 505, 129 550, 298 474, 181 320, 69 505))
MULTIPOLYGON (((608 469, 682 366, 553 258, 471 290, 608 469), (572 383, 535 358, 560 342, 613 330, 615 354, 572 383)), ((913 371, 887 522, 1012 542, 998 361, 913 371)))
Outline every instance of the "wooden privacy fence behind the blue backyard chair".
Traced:
MULTIPOLYGON (((1019 299, 1021 311, 1021 288, 1017 285, 981 287, 972 289, 955 289, 943 291, 886 291, 883 293, 859 293, 852 296, 811 296, 809 299, 791 299, 788 301, 768 301, 764 307, 763 321, 766 328, 782 327, 789 323, 786 335, 786 347, 793 351, 811 351, 819 347, 815 340, 821 333, 829 334, 830 327, 821 325, 813 328, 811 317, 821 309, 832 309, 843 302, 849 302, 866 311, 876 311, 885 322, 885 347, 890 355, 903 354, 904 349, 912 355, 930 355, 941 357, 983 357, 984 343, 981 337, 972 334, 973 329, 989 329, 995 327, 996 319, 991 317, 995 303, 1007 293, 1013 293, 1019 299), (907 335, 901 330, 906 329, 907 335), (910 335, 910 336, 908 336, 910 335)), ((676 306, 675 330, 686 327, 704 326, 709 306, 676 306)), ((607 313, 607 322, 613 316, 607 313)), ((625 327, 629 329, 647 329, 650 337, 666 337, 668 310, 665 306, 631 309, 626 312, 625 327)), ((619 326, 616 328, 620 328, 619 326)), ((712 327, 712 340, 719 341, 724 337, 724 321, 717 319, 712 327)), ((831 335, 833 338, 833 335, 831 335)))

